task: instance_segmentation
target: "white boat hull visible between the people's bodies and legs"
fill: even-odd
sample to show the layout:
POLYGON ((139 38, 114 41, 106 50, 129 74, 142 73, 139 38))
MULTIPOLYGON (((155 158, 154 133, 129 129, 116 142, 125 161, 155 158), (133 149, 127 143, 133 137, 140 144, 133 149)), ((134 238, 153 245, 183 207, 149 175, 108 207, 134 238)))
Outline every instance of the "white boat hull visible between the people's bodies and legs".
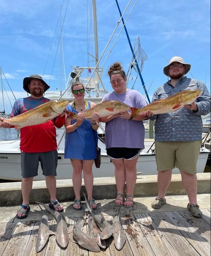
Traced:
MULTIPOLYGON (((140 154, 137 163, 137 174, 142 173, 142 175, 156 175, 157 173, 155 154, 151 151, 150 153, 147 153, 152 143, 152 141, 145 142, 146 148, 140 154)), ((101 166, 100 168, 96 168, 95 165, 93 165, 94 178, 114 177, 114 165, 106 155, 105 145, 101 141, 98 142, 98 145, 101 148, 101 166)), ((60 147, 63 147, 63 145, 60 144, 60 147)), ((201 150, 197 162, 198 173, 204 172, 209 152, 210 151, 206 148, 201 150)), ((179 170, 177 168, 173 169, 173 174, 179 174, 179 170)), ((59 149, 57 179, 71 179, 71 177, 72 165, 70 160, 64 159, 64 150, 63 148, 59 149)), ((0 179, 13 181, 21 180, 19 140, 0 141, 0 179)), ((41 166, 39 166, 38 176, 34 177, 34 180, 44 180, 41 166)))

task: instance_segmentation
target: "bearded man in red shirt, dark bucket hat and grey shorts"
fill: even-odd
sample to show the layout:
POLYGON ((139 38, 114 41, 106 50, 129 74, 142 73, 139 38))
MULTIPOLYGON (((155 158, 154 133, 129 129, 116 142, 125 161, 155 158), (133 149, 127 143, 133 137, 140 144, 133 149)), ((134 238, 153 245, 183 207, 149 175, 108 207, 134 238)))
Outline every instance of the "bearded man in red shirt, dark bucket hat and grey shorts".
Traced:
MULTIPOLYGON (((44 92, 49 88, 48 84, 39 75, 25 77, 23 79, 23 89, 31 96, 17 99, 11 116, 17 116, 49 101, 49 99, 43 97, 44 92)), ((22 204, 16 214, 18 219, 26 218, 30 211, 29 197, 32 191, 33 178, 38 175, 39 162, 41 162, 42 172, 45 175, 45 182, 50 195, 49 207, 57 211, 64 210, 56 198, 58 161, 56 127, 62 127, 64 121, 65 113, 63 112, 57 118, 46 123, 20 129, 22 204)), ((1 126, 5 128, 12 127, 9 122, 4 122, 1 126)))

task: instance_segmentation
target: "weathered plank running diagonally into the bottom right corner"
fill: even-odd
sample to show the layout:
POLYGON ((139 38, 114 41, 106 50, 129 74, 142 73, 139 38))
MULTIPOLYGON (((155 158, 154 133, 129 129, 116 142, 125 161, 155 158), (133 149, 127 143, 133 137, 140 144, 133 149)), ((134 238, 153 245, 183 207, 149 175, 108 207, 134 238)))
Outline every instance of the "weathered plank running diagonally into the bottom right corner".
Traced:
POLYGON ((175 227, 181 232, 182 236, 188 240, 200 255, 210 255, 210 249, 204 246, 208 240, 201 236, 198 227, 193 226, 191 221, 184 218, 183 215, 181 217, 179 212, 167 212, 166 214, 175 227))

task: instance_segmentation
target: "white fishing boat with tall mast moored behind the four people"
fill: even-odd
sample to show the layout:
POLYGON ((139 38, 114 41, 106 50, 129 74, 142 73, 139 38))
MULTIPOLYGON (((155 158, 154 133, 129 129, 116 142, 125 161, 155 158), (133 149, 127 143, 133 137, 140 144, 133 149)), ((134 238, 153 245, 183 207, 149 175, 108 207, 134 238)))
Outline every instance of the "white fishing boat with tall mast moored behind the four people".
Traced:
MULTIPOLYGON (((96 15, 95 1, 93 0, 93 13, 96 15)), ((94 18, 96 19, 96 17, 94 18)), ((124 26, 125 27, 125 26, 124 26)), ((95 26, 96 30, 96 26, 95 26)), ((96 37, 96 36, 95 36, 96 37)), ((100 103, 102 97, 107 91, 103 86, 102 67, 99 67, 99 61, 96 52, 96 65, 95 67, 76 67, 71 66, 72 71, 69 73, 69 77, 65 86, 65 90, 60 92, 45 92, 45 97, 49 99, 69 99, 73 100, 71 95, 71 85, 75 81, 82 81, 86 87, 86 99, 100 103), (84 76, 88 73, 90 76, 84 76)), ((138 67, 138 63, 137 63, 138 67)), ((140 72, 139 72, 140 74, 140 72)), ((70 179, 72 177, 72 165, 69 159, 64 158, 64 138, 65 129, 57 129, 57 144, 58 144, 58 167, 57 167, 57 179, 70 179)), ((100 123, 98 129, 98 146, 101 148, 101 165, 100 168, 96 168, 93 165, 94 177, 114 177, 114 165, 107 157, 104 144, 104 123, 100 123)), ((206 161, 208 158, 209 150, 204 146, 201 147, 201 152, 197 162, 198 173, 203 173, 206 161)), ((0 141, 0 179, 10 181, 21 180, 20 170, 20 150, 19 139, 15 140, 3 140, 0 141)), ((178 174, 179 170, 175 168, 174 174, 178 174)), ((137 176, 139 175, 156 175, 156 162, 155 162, 155 150, 153 136, 150 139, 145 139, 145 148, 141 152, 137 163, 137 176)), ((41 166, 39 166, 38 176, 34 177, 34 180, 44 180, 42 175, 41 166)))

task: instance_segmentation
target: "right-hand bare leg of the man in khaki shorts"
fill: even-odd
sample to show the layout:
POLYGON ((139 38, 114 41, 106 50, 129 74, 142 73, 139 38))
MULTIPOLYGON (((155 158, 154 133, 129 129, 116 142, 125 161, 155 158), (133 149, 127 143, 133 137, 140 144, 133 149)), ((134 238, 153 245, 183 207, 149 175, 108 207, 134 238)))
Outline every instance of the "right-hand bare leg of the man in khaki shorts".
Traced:
POLYGON ((197 176, 196 174, 188 174, 185 172, 181 173, 181 180, 184 189, 188 195, 189 203, 190 204, 197 204, 197 176))

